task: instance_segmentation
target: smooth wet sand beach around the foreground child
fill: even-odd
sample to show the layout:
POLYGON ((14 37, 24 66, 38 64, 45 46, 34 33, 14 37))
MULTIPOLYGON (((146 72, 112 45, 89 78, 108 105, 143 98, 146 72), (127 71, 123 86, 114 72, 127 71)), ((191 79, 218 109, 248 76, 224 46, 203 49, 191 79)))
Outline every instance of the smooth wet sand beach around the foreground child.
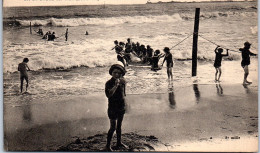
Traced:
MULTIPOLYGON (((127 95, 123 142, 140 144, 140 151, 255 152, 257 90, 254 84, 194 84, 163 94, 127 95)), ((24 95, 21 100, 27 103, 4 104, 5 150, 56 151, 77 144, 75 139, 87 145, 90 138, 96 151, 105 147, 109 120, 104 93, 38 100, 24 95)), ((82 143, 74 149, 88 151, 82 143)))

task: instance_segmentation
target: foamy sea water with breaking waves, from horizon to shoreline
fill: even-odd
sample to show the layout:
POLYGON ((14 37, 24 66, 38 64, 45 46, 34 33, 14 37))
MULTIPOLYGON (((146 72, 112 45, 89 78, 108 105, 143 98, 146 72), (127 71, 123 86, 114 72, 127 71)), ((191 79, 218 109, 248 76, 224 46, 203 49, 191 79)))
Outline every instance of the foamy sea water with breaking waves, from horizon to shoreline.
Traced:
MULTIPOLYGON (((32 70, 29 93, 33 99, 104 94, 105 82, 111 77, 109 67, 117 60, 111 50, 113 42, 126 42, 127 38, 161 52, 164 47, 174 47, 175 90, 193 83, 214 83, 215 44, 238 51, 249 41, 251 51, 257 53, 256 7, 257 2, 210 2, 3 8, 4 103, 20 102, 17 66, 25 57, 32 70), (191 77, 192 33, 198 7, 203 38, 198 39, 197 76, 191 77), (46 41, 35 32, 39 28, 44 33, 55 31, 59 38, 46 41)), ((133 61, 125 75, 127 94, 167 92, 165 65, 154 72, 134 56, 133 61)), ((240 62, 238 52, 230 51, 230 56, 223 58, 222 83, 242 83, 240 62)), ((257 85, 257 58, 252 58, 249 78, 257 85)))

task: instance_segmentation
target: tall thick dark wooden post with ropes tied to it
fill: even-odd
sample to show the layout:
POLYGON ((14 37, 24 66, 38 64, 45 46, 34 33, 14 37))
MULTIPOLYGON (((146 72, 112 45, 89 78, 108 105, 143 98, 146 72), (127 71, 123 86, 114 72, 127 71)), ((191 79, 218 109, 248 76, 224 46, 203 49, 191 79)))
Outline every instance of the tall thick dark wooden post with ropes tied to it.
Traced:
POLYGON ((199 18, 200 18, 200 8, 196 8, 195 21, 194 21, 194 33, 193 33, 193 46, 192 46, 192 76, 197 75, 199 18))

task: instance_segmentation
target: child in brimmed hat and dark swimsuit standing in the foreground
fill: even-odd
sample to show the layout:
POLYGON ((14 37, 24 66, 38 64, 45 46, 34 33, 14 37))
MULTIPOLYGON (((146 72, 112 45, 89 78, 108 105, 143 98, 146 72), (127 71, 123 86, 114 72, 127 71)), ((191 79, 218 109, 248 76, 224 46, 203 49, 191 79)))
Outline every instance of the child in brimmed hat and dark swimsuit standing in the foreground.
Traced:
POLYGON ((108 98, 108 117, 110 119, 110 129, 107 134, 106 151, 111 149, 111 140, 114 132, 117 134, 117 147, 127 147, 121 142, 121 126, 125 114, 125 87, 124 75, 126 70, 121 62, 113 64, 109 69, 112 76, 106 82, 105 93, 108 98))

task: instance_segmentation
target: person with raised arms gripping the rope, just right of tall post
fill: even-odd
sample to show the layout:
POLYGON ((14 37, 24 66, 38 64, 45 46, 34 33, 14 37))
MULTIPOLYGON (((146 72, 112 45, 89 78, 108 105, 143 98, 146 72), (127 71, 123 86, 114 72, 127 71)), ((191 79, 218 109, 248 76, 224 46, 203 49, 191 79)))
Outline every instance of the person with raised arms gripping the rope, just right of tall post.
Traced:
POLYGON ((215 81, 220 81, 220 76, 221 76, 221 61, 222 61, 222 57, 223 56, 228 56, 228 49, 227 49, 227 53, 226 54, 222 54, 223 49, 219 48, 220 46, 217 46, 215 49, 215 62, 214 62, 214 67, 216 69, 216 73, 215 73, 215 81), (218 76, 219 73, 219 76, 218 76), (217 77, 218 76, 218 77, 217 77))

